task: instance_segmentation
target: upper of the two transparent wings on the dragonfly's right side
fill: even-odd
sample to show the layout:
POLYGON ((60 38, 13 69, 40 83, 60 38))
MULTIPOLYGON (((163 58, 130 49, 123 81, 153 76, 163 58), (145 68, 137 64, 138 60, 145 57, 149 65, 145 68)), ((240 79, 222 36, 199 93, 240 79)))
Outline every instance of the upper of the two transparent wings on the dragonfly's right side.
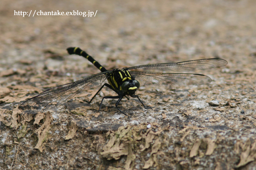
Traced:
POLYGON ((203 70, 208 68, 216 68, 226 66, 228 62, 223 59, 202 59, 202 60, 191 60, 187 62, 178 63, 163 63, 163 64, 147 64, 141 66, 129 67, 131 69, 146 69, 146 70, 163 70, 163 71, 194 71, 203 70))

